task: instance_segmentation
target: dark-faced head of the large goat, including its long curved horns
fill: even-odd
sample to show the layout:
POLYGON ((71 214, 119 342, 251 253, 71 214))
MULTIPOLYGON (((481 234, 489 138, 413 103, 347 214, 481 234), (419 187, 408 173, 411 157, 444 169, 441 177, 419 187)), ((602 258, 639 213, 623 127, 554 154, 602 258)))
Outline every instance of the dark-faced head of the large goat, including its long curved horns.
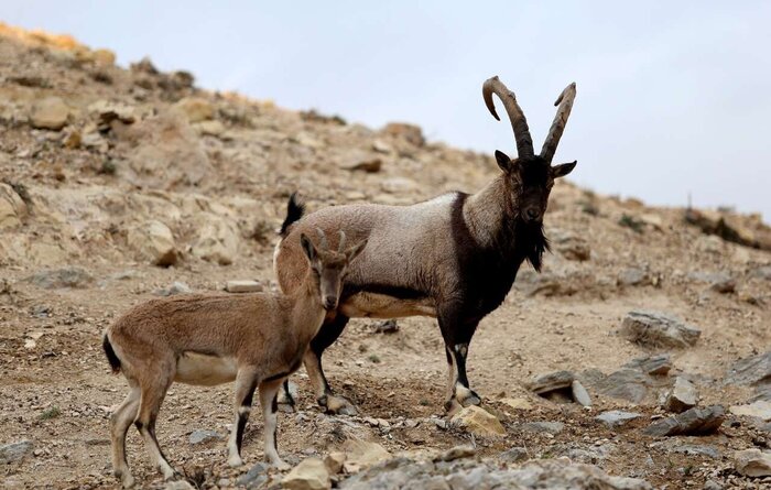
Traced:
POLYGON ((492 77, 482 85, 485 105, 492 116, 500 120, 492 102, 492 94, 503 102, 511 127, 514 130, 517 141, 517 159, 510 159, 506 153, 496 151, 496 161, 507 175, 507 198, 510 199, 510 208, 517 213, 518 218, 525 222, 541 222, 546 213, 549 194, 554 185, 554 179, 569 174, 577 162, 563 163, 552 166, 554 152, 560 143, 560 138, 565 130, 567 118, 571 116, 573 100, 576 97, 576 84, 568 85, 557 101, 557 115, 554 118, 549 135, 543 143, 541 154, 533 152, 533 140, 530 138, 528 120, 517 104, 514 92, 506 88, 498 77, 492 77))

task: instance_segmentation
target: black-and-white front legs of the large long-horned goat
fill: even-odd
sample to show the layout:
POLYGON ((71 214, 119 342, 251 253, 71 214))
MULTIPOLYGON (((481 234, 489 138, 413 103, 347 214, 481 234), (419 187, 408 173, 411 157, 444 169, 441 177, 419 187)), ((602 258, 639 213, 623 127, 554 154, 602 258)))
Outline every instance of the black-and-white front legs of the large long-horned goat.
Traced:
POLYGON ((460 407, 481 404, 479 395, 469 388, 466 374, 468 345, 477 328, 477 323, 458 320, 456 308, 446 308, 439 315, 439 328, 445 340, 447 355, 447 400, 445 410, 455 414, 460 407))

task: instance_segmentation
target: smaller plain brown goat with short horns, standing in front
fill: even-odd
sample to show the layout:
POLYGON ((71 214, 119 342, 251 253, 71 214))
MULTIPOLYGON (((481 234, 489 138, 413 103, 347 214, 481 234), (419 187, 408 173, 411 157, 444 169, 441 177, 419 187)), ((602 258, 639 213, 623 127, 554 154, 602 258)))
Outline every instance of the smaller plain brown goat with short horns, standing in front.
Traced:
POLYGON ((112 466, 124 487, 133 484, 126 460, 126 434, 133 424, 150 457, 169 479, 175 472, 155 438, 155 418, 174 381, 215 385, 236 380, 236 421, 228 442, 230 466, 239 466, 243 428, 259 386, 264 420, 265 457, 285 467, 275 443, 276 393, 303 355, 328 311, 335 311, 348 264, 366 240, 337 251, 322 230, 317 249, 298 240, 307 268, 290 295, 185 295, 135 306, 105 334, 104 347, 113 372, 122 371, 131 389, 110 418, 112 466))

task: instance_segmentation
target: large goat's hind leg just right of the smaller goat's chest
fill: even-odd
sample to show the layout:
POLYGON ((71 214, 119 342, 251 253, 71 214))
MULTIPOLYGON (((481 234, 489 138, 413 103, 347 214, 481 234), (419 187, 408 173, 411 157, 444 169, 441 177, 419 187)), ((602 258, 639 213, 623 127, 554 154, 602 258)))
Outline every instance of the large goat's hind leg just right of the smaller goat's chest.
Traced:
POLYGON ((343 315, 337 315, 334 319, 325 323, 316 337, 311 341, 311 347, 305 352, 303 363, 313 384, 316 401, 327 413, 356 415, 357 410, 348 400, 334 394, 322 368, 324 350, 337 340, 347 323, 348 317, 343 315))

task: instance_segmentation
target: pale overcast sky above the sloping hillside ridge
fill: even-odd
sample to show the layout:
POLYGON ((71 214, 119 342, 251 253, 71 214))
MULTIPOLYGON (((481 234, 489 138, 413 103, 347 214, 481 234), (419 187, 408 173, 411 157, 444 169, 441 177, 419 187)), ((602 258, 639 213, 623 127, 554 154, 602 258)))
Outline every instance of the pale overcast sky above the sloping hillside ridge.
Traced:
MULTIPOLYGON (((187 69, 198 86, 316 108, 432 140, 515 153, 481 99, 517 92, 540 149, 554 99, 578 96, 555 161, 651 204, 771 217, 769 1, 43 1, 0 20, 187 69)), ((473 190, 473 189, 466 189, 473 190)))

